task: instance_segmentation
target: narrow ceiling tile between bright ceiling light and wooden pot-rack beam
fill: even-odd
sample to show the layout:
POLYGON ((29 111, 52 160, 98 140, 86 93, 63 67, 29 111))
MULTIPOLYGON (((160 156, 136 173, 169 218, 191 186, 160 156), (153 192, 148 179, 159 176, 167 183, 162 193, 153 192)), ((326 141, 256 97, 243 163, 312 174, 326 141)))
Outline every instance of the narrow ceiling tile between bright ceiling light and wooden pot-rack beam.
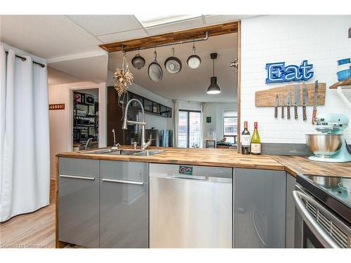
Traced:
POLYGON ((204 23, 202 22, 202 18, 195 18, 190 20, 183 20, 180 22, 173 22, 164 25, 158 25, 155 27, 146 27, 147 32, 149 34, 163 34, 168 32, 179 31, 183 29, 191 29, 194 27, 202 27, 204 23))

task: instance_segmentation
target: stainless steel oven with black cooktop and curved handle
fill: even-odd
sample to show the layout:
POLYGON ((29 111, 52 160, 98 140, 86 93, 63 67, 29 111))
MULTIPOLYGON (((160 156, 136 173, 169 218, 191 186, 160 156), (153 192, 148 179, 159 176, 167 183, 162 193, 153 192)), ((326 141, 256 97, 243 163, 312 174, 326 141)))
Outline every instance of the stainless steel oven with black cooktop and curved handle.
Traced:
POLYGON ((351 248, 350 206, 333 196, 335 192, 347 201, 349 193, 338 186, 325 190, 308 175, 296 182, 295 248, 351 248))

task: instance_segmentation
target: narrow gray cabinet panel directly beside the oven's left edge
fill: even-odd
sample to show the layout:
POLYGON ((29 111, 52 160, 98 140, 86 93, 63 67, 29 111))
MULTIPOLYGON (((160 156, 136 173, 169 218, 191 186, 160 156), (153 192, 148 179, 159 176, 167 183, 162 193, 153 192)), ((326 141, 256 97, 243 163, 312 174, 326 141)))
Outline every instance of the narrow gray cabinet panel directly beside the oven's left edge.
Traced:
POLYGON ((294 248, 295 236, 295 204, 293 203, 293 190, 295 190, 296 177, 286 173, 286 248, 294 248))

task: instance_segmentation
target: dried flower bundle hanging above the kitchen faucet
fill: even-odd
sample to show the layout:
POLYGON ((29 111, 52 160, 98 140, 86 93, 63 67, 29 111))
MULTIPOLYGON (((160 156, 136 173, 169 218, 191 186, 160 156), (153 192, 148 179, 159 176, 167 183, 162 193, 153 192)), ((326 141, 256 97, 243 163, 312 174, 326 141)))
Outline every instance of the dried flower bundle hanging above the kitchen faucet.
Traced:
POLYGON ((114 89, 117 90, 119 97, 127 92, 132 82, 133 74, 129 70, 126 53, 124 53, 122 68, 117 68, 116 72, 114 72, 114 89))

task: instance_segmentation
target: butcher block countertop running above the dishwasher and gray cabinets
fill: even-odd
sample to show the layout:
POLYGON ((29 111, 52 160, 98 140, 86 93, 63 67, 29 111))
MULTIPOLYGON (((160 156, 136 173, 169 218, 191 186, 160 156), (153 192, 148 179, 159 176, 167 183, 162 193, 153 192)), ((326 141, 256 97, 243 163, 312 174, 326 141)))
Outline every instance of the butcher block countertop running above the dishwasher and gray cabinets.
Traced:
MULTIPOLYGON (((130 147, 121 147, 126 149, 130 147)), ((153 156, 131 156, 110 154, 83 154, 84 151, 60 153, 58 157, 84 159, 102 159, 112 161, 142 161, 147 163, 172 163, 198 166, 221 166, 235 168, 255 168, 269 170, 286 170, 293 176, 308 173, 314 175, 351 177, 351 162, 321 163, 310 161, 303 156, 280 155, 243 155, 233 149, 188 149, 148 147, 147 149, 163 149, 164 152, 153 156)))

